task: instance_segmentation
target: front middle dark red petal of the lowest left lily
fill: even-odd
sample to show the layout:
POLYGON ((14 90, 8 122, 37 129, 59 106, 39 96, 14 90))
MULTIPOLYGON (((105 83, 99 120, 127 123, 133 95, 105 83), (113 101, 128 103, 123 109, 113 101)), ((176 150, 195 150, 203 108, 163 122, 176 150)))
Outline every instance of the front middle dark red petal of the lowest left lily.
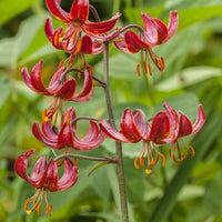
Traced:
POLYGON ((38 188, 46 188, 53 190, 58 185, 58 167, 53 159, 51 159, 44 170, 44 173, 38 184, 38 188))

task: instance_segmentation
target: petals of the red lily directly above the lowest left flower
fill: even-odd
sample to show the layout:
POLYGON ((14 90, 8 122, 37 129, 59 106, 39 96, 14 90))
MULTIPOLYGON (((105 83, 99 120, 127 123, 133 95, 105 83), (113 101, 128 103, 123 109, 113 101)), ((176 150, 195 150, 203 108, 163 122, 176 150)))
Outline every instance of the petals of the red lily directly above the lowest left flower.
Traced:
POLYGON ((38 122, 33 123, 32 132, 38 140, 53 149, 73 148, 79 151, 88 151, 98 148, 104 141, 105 134, 99 132, 98 124, 93 121, 90 121, 90 129, 87 135, 79 139, 77 137, 77 125, 72 125, 74 119, 74 109, 70 108, 64 113, 60 129, 54 125, 51 127, 51 119, 43 117, 42 132, 38 122))

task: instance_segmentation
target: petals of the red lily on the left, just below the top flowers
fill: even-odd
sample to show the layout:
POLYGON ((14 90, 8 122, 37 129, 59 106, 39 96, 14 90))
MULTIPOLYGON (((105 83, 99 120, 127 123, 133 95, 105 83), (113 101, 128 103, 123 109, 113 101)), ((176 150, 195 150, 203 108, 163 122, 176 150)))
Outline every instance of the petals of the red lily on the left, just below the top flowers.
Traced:
POLYGON ((61 80, 65 67, 61 67, 52 77, 49 88, 46 88, 41 79, 41 68, 43 61, 38 62, 29 75, 28 69, 23 68, 21 71, 22 79, 24 83, 34 92, 48 97, 61 98, 67 101, 84 102, 91 99, 94 87, 90 73, 84 71, 84 84, 83 89, 75 93, 77 82, 72 77, 64 78, 64 81, 61 80))

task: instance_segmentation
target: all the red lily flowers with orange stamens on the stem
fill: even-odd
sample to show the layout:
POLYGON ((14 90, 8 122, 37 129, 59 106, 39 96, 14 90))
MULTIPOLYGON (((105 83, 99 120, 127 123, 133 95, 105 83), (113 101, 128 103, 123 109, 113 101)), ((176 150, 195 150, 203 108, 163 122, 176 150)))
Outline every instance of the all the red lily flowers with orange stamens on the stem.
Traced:
MULTIPOLYGON (((46 213, 51 215, 52 205, 48 199, 48 191, 57 192, 69 189, 78 180, 77 158, 79 155, 77 157, 74 152, 95 149, 103 143, 107 137, 127 143, 137 143, 142 140, 143 148, 139 157, 135 158, 134 165, 139 168, 139 160, 140 165, 144 168, 147 150, 147 173, 151 172, 151 165, 154 165, 160 158, 162 158, 162 165, 165 163, 165 157, 157 147, 159 144, 172 144, 169 153, 175 162, 188 157, 188 149, 194 155, 193 148, 186 147, 182 141, 182 137, 193 134, 202 128, 205 121, 202 105, 199 105, 198 118, 193 124, 181 111, 176 113, 167 103, 164 103, 165 111, 161 111, 150 119, 147 119, 141 110, 132 112, 130 109, 125 109, 121 119, 120 132, 113 128, 113 124, 110 125, 110 119, 78 117, 73 107, 65 108, 67 101, 89 101, 93 97, 95 85, 108 89, 108 82, 102 82, 94 77, 92 67, 84 58, 84 54, 102 52, 108 43, 113 42, 118 49, 127 53, 142 52, 142 61, 137 67, 139 75, 141 64, 145 72, 149 70, 152 74, 149 58, 162 72, 164 59, 155 56, 152 47, 162 44, 173 37, 179 23, 178 12, 170 12, 168 27, 159 19, 142 12, 144 28, 128 26, 120 29, 115 27, 115 23, 121 13, 117 12, 108 21, 101 21, 97 10, 89 4, 89 0, 74 0, 70 12, 60 7, 61 0, 46 0, 46 2, 51 14, 65 26, 65 28, 59 27, 54 30, 52 19, 48 18, 44 26, 46 36, 56 49, 63 50, 69 56, 59 63, 58 70, 52 74, 48 87, 42 81, 42 60, 32 68, 30 73, 27 68, 21 70, 24 83, 32 91, 41 95, 52 97, 51 103, 42 112, 41 123, 33 123, 32 133, 39 141, 51 148, 56 155, 48 163, 46 157, 41 157, 34 164, 30 176, 27 174, 28 160, 34 150, 30 150, 17 159, 16 172, 37 189, 34 195, 26 201, 27 213, 31 214, 37 210, 40 214, 40 206, 44 198, 47 202, 46 213), (89 21, 89 11, 93 13, 95 22, 89 21), (137 28, 139 33, 131 31, 131 28, 137 28), (83 62, 82 69, 81 62, 83 62), (80 92, 77 92, 77 79, 71 77, 70 73, 83 78, 83 87, 80 92), (98 84, 94 84, 94 82, 98 82, 98 84), (82 138, 79 138, 77 133, 77 121, 79 120, 90 120, 89 131, 82 138), (60 155, 57 155, 57 152, 60 152, 60 155), (64 165, 64 171, 59 179, 59 169, 62 165, 64 165), (30 205, 32 206, 30 208, 30 205)), ((111 105, 110 102, 107 103, 111 105)), ((97 160, 117 163, 115 159, 110 158, 97 160)))

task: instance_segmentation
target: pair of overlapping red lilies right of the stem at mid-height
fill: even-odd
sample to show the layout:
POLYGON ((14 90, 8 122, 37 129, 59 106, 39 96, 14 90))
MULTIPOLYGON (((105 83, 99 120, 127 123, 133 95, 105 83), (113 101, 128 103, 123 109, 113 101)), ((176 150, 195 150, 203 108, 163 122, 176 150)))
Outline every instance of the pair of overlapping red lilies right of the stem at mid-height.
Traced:
POLYGON ((115 141, 125 143, 143 141, 142 151, 139 154, 139 158, 135 158, 134 165, 139 169, 139 159, 140 165, 144 168, 144 154, 147 148, 147 173, 151 173, 151 165, 157 164, 160 157, 162 158, 162 165, 165 164, 165 157, 158 150, 158 144, 171 143, 173 147, 173 154, 171 153, 171 148, 169 149, 169 153, 175 162, 186 159, 188 153, 185 149, 190 149, 192 155, 194 155, 193 148, 186 147, 182 137, 198 132, 205 122, 205 114, 202 105, 199 105, 198 108, 198 117, 193 124, 181 111, 179 111, 178 114, 168 103, 164 103, 163 107, 165 108, 165 111, 159 112, 150 120, 147 119, 141 110, 132 112, 130 109, 125 109, 121 118, 120 132, 110 127, 105 120, 100 122, 102 131, 115 141), (152 122, 150 123, 150 121, 152 122))

